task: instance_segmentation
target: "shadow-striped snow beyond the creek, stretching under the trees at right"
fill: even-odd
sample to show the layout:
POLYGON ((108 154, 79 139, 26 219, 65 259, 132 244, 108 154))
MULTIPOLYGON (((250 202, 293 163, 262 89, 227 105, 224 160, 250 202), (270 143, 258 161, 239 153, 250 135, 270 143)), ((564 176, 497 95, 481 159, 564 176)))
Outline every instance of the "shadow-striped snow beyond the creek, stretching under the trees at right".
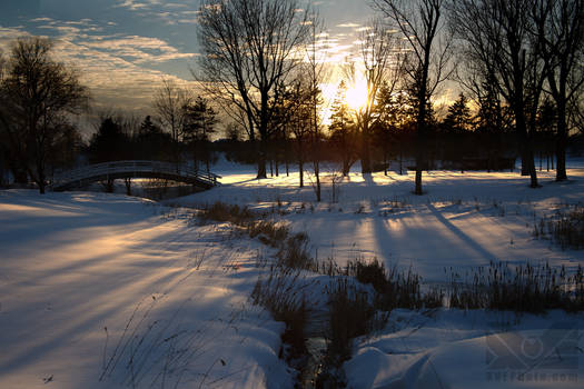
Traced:
POLYGON ((377 257, 389 267, 412 266, 426 282, 442 282, 451 268, 464 273, 492 260, 548 261, 570 269, 582 263, 582 251, 562 251, 532 236, 541 217, 584 199, 584 161, 571 163, 567 182, 554 182, 554 172, 538 172, 540 189, 531 189, 528 178, 517 172, 433 171, 424 174, 422 197, 412 193, 412 172, 387 177, 379 172, 364 179, 353 171, 338 186, 335 202, 331 178, 338 173, 334 166, 325 166, 320 203, 310 174, 306 187, 298 188, 296 170, 287 177, 280 167, 280 177, 256 180, 254 167, 222 163, 217 171, 224 176, 220 188, 178 202, 275 208, 289 212, 284 219, 294 230, 308 233, 320 258, 333 257, 343 266, 356 257, 377 257))

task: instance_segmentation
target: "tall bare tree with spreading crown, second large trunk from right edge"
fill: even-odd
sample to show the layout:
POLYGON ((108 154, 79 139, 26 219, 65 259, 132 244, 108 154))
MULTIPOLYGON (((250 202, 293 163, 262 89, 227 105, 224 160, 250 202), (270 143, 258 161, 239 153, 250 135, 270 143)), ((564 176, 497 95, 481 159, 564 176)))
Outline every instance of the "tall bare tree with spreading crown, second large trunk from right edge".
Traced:
POLYGON ((532 134, 541 96, 543 68, 537 43, 529 34, 533 0, 461 0, 454 3, 452 26, 466 41, 464 54, 488 74, 514 113, 521 147, 522 173, 537 188, 532 134))

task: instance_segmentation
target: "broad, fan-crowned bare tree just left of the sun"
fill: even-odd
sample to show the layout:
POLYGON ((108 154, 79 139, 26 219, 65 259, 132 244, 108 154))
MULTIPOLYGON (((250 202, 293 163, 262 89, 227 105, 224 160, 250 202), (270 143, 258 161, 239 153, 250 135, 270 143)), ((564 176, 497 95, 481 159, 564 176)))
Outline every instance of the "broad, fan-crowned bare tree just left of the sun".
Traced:
POLYGON ((280 84, 300 62, 298 49, 309 36, 308 13, 298 0, 202 0, 200 7, 201 74, 195 76, 224 107, 245 112, 250 140, 259 132, 258 178, 266 178, 280 84))

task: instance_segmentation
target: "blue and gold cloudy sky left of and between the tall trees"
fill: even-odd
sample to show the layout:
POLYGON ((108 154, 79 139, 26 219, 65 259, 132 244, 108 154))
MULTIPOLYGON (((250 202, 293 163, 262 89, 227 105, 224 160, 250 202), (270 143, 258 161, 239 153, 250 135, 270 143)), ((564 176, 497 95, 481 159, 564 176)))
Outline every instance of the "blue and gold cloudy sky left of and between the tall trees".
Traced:
MULTIPOLYGON (((164 78, 192 82, 198 0, 0 0, 0 49, 16 38, 55 40, 55 58, 80 71, 97 109, 148 112, 164 78)), ((315 1, 333 60, 356 49, 367 0, 315 1)))

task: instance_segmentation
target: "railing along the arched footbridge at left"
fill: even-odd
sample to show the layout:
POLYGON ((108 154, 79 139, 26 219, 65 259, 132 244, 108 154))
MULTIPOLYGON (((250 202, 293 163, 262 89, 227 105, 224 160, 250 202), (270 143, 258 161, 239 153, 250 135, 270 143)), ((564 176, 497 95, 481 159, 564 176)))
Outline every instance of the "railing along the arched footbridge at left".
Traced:
POLYGON ((217 184, 220 176, 204 170, 192 169, 184 164, 176 164, 161 161, 115 161, 89 164, 82 168, 56 173, 52 178, 51 186, 59 187, 62 184, 81 181, 98 176, 132 173, 132 172, 152 172, 164 174, 175 174, 184 178, 197 179, 209 184, 217 184))

